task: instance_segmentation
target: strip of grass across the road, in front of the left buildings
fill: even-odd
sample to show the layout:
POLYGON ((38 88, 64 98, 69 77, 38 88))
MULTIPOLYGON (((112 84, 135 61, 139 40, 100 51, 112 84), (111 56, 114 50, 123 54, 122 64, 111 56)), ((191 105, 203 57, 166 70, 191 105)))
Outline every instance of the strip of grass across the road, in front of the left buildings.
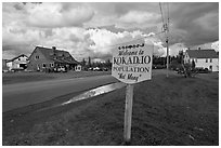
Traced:
POLYGON ((52 79, 70 79, 109 75, 110 71, 68 71, 68 72, 6 72, 2 73, 2 84, 13 84, 52 79))

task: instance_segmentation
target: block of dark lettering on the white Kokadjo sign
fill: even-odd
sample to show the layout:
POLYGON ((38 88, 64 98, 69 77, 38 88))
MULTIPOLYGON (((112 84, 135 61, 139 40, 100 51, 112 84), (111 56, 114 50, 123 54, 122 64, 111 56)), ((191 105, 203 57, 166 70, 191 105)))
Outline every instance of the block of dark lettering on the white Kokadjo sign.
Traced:
POLYGON ((113 71, 118 73, 118 79, 127 79, 138 81, 143 73, 151 71, 152 56, 145 55, 142 45, 135 45, 128 50, 128 48, 118 48, 118 55, 113 57, 113 71), (125 49, 125 50, 122 50, 125 49))

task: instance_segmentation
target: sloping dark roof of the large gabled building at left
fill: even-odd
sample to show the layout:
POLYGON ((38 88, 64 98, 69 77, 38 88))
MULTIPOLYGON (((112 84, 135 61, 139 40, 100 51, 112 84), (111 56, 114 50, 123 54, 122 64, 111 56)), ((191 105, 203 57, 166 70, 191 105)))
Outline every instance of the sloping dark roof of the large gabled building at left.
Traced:
POLYGON ((47 59, 55 63, 78 64, 78 62, 66 51, 36 46, 47 59))

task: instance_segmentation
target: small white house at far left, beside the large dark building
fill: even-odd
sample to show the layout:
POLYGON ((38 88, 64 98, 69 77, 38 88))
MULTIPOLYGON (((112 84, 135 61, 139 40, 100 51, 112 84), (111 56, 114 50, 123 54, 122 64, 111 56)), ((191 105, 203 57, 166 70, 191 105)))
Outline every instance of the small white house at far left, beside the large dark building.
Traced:
POLYGON ((6 60, 6 67, 9 70, 23 70, 27 68, 28 57, 24 54, 6 60))

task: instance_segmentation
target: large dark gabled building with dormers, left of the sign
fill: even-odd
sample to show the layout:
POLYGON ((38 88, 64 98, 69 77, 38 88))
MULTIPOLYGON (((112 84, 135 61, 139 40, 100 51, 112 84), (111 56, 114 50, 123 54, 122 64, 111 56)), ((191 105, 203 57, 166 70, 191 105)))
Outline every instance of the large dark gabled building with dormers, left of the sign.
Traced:
POLYGON ((31 71, 53 71, 57 67, 64 67, 66 70, 75 69, 78 62, 67 52, 52 49, 36 46, 29 56, 28 70, 31 71))

